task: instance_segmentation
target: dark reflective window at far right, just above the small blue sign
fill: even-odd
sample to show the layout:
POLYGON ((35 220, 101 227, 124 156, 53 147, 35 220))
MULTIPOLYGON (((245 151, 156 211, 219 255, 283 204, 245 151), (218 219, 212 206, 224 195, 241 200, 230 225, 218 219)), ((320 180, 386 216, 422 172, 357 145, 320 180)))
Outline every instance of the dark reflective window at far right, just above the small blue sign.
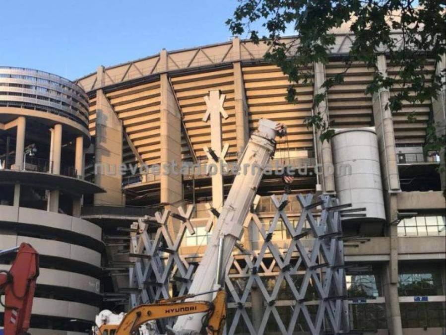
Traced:
POLYGON ((406 269, 398 279, 400 296, 442 295, 442 275, 440 269, 406 269))

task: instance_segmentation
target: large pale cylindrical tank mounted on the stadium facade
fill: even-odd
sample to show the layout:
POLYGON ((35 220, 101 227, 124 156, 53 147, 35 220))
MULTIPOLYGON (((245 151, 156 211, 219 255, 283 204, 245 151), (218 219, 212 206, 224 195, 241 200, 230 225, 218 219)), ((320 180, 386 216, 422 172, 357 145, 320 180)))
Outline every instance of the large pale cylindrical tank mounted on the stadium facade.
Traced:
MULTIPOLYGON (((377 134, 374 127, 338 129, 332 139, 340 203, 365 207, 368 219, 385 219, 377 134)), ((364 212, 363 212, 364 213, 364 212)), ((357 219, 357 217, 351 217, 357 219)))

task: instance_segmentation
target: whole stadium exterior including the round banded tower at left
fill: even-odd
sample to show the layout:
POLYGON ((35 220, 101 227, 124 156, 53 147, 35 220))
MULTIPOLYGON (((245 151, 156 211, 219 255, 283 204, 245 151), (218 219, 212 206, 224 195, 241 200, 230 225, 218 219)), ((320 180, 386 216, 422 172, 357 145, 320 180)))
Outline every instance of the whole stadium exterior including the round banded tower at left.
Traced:
MULTIPOLYGON (((196 234, 186 233, 180 252, 187 260, 199 260, 208 236, 206 203, 221 206, 234 176, 211 177, 195 169, 167 175, 151 169, 172 162, 205 163, 204 148, 215 143, 220 143, 220 158, 236 162, 258 120, 268 118, 288 129, 273 161, 304 167, 294 176, 292 194, 336 195, 341 203, 366 207, 365 217, 343 221, 351 328, 365 334, 442 334, 445 179, 438 171, 444 155, 423 147, 428 125, 445 124, 445 92, 437 100, 403 103, 392 115, 387 102, 398 89, 365 94, 375 68, 353 62, 344 82, 319 105, 337 130, 331 142, 321 143, 304 120, 318 112, 312 110, 313 97, 324 79, 344 69, 352 38, 336 34, 329 62, 309 68, 314 83, 297 85, 296 104, 285 100, 287 77, 263 59, 268 46, 238 38, 101 66, 76 84, 49 74, 42 74, 40 84, 43 72, 0 68, 0 154, 4 161, 9 157, 0 170, 5 190, 0 241, 3 248, 27 240, 43 255, 33 327, 58 335, 81 332, 94 320, 99 293, 103 306, 125 308, 129 226, 159 208, 175 211, 195 204, 196 234), (220 125, 203 120, 205 97, 211 94, 219 95, 227 114, 220 125), (36 147, 34 157, 26 154, 36 147), (344 161, 352 167, 347 176, 338 169, 344 161), (64 175, 64 164, 74 167, 73 175, 64 175), (117 172, 121 166, 124 173, 117 172)), ((398 75, 385 55, 378 57, 377 68, 398 75)), ((429 76, 444 68, 445 57, 428 62, 424 70, 429 76)), ((280 176, 264 176, 255 212, 265 227, 275 211, 269 196, 281 193, 280 176)), ((290 208, 298 208, 293 199, 290 208)), ((290 236, 284 225, 278 227, 273 240, 285 248, 290 236)), ((169 229, 178 232, 175 220, 169 229)), ((260 243, 254 231, 245 232, 244 245, 258 250, 260 243)), ((266 334, 274 334, 274 325, 266 334)))

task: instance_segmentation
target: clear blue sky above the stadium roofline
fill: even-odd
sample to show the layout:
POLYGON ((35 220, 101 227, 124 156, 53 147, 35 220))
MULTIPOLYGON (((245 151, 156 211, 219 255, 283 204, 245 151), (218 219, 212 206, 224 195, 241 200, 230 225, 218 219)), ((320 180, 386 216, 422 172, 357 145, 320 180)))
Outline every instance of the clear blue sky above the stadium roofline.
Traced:
POLYGON ((231 33, 224 22, 236 6, 236 0, 2 0, 0 66, 74 80, 162 48, 225 42, 231 33))

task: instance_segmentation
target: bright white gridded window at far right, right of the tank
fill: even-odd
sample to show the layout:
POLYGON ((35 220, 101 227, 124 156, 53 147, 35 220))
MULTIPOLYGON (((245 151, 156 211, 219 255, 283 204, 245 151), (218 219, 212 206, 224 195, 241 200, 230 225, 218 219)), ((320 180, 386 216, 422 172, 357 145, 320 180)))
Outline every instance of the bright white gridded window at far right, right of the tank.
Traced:
POLYGON ((398 224, 398 236, 445 236, 445 216, 414 216, 398 224))

